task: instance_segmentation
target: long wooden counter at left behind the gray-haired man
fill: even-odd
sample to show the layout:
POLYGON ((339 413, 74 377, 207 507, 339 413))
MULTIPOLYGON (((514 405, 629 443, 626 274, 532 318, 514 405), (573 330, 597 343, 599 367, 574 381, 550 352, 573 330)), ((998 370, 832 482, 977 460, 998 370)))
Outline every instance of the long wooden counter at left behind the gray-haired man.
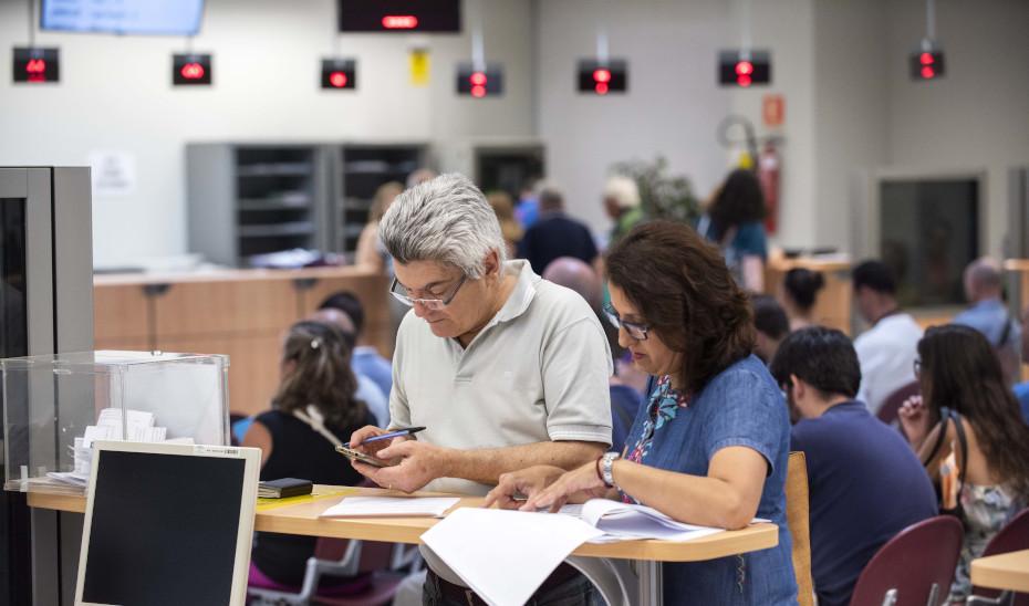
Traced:
POLYGON ((162 349, 229 356, 229 408, 266 410, 279 385, 282 338, 341 290, 365 306, 365 341, 391 355, 388 279, 355 268, 231 270, 94 279, 97 349, 162 349))

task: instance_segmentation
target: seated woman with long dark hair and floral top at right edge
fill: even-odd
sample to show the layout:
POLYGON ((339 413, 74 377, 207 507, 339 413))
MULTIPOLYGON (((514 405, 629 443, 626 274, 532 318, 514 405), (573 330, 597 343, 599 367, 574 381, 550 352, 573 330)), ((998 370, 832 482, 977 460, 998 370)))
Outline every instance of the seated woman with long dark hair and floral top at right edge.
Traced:
POLYGON ((933 326, 918 342, 922 395, 901 407, 901 426, 929 478, 940 510, 965 526, 950 602, 965 603, 969 564, 1029 504, 1029 426, 981 333, 933 326))

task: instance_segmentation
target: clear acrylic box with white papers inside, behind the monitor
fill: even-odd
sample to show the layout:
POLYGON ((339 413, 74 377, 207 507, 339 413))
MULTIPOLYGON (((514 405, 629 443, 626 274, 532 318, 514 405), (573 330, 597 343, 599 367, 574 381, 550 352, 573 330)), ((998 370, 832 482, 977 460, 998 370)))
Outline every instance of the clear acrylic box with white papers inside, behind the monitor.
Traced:
POLYGON ((82 491, 93 439, 229 443, 229 358, 80 352, 0 359, 4 489, 82 491))

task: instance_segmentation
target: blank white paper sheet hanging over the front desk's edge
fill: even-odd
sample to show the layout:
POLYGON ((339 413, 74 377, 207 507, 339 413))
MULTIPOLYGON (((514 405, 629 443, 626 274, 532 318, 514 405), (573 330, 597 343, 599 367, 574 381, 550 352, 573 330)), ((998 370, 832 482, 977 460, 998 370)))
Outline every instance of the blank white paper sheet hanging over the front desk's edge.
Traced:
POLYGON ((422 535, 492 606, 520 606, 575 547, 603 533, 572 515, 461 508, 422 535))

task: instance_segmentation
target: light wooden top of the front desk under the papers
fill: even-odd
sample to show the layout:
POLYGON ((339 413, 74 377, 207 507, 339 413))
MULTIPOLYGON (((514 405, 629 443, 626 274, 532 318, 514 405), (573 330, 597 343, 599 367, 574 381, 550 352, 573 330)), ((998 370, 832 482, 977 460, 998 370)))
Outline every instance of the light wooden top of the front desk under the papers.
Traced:
MULTIPOLYGON (((281 502, 261 499, 257 508, 254 530, 311 536, 334 536, 362 541, 417 544, 418 539, 438 520, 432 518, 320 519, 319 514, 346 495, 403 495, 382 489, 315 485, 309 497, 284 499, 281 502)), ((29 506, 69 512, 85 512, 85 497, 29 492, 29 506)), ((455 506, 478 506, 482 499, 466 497, 455 506)), ((661 562, 697 562, 738 553, 773 547, 779 543, 775 524, 753 524, 744 530, 704 536, 686 543, 667 541, 625 541, 603 545, 584 544, 574 555, 652 560, 661 562)))

